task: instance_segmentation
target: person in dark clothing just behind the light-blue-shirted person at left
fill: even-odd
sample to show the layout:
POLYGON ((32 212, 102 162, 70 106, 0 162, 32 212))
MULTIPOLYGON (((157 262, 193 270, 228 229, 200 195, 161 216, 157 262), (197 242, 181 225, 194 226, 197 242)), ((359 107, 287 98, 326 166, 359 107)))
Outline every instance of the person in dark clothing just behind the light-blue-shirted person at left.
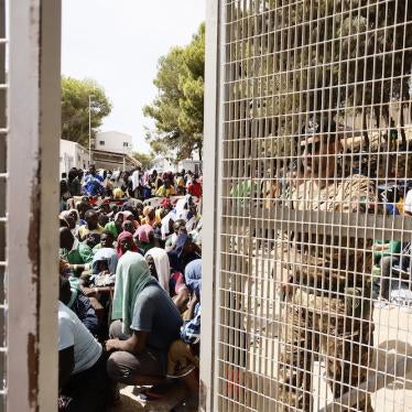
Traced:
POLYGON ((58 299, 77 315, 91 335, 98 335, 99 319, 90 300, 82 292, 76 278, 66 279, 62 277, 58 299))

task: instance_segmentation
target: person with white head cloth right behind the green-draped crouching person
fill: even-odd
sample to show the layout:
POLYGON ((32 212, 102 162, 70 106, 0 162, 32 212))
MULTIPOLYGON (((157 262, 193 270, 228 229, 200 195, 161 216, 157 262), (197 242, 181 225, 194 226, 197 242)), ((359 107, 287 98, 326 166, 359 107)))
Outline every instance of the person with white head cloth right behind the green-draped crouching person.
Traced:
POLYGON ((150 273, 159 284, 169 293, 180 312, 186 308, 189 293, 184 282, 184 277, 180 272, 171 273, 169 256, 161 248, 152 248, 144 256, 150 273))

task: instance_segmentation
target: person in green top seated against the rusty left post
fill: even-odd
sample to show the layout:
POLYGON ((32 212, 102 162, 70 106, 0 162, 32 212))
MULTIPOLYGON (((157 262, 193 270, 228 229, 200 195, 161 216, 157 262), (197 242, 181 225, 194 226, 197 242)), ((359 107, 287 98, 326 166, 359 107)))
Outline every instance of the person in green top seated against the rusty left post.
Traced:
POLYGON ((61 258, 65 259, 78 278, 84 270, 90 269, 93 262, 93 250, 78 241, 69 228, 59 229, 61 258))

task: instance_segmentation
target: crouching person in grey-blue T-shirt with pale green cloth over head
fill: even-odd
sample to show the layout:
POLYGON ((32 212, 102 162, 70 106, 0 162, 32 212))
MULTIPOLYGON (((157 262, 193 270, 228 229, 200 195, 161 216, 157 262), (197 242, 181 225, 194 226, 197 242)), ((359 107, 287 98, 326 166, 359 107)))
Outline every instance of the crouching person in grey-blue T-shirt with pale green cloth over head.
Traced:
POLYGON ((167 349, 178 337, 182 317, 167 293, 151 277, 139 253, 119 260, 110 326, 109 377, 126 384, 159 384, 166 372, 167 349))

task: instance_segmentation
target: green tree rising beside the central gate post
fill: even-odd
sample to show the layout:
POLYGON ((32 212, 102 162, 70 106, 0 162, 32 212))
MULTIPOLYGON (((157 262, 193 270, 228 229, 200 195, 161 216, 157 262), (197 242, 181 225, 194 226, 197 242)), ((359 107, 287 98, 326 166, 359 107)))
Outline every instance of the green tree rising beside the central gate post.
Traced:
POLYGON ((184 46, 171 48, 159 59, 153 80, 158 97, 143 108, 154 119, 155 130, 147 140, 158 154, 175 154, 176 160, 197 151, 202 159, 205 78, 205 24, 184 46))

